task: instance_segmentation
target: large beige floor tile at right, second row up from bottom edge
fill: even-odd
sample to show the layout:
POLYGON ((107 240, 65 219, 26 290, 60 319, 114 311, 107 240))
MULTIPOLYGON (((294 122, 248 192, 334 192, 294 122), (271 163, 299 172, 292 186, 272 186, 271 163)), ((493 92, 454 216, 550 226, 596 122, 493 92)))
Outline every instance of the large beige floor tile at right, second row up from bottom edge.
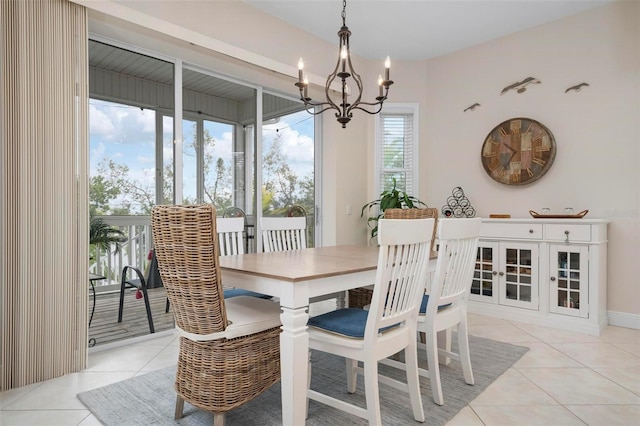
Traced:
POLYGON ((588 368, 518 370, 560 404, 640 404, 640 396, 588 368))

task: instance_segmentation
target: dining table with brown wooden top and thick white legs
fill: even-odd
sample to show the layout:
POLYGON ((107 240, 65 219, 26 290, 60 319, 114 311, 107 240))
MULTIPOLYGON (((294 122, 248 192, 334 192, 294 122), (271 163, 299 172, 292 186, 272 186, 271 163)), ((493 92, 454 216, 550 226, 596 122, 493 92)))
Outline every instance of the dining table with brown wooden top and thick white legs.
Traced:
POLYGON ((309 300, 372 285, 378 247, 337 245, 221 256, 224 286, 277 298, 282 313, 282 424, 305 424, 309 360, 309 300))

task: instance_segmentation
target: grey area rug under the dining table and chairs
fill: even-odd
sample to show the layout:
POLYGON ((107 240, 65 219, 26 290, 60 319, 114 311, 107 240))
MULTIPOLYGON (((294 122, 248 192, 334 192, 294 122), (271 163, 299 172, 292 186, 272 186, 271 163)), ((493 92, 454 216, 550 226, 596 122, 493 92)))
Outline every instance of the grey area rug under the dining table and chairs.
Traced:
MULTIPOLYGON (((455 339, 453 340, 455 342, 455 339)), ((469 345, 475 385, 470 386, 464 382, 459 362, 452 361, 450 365, 442 366, 440 375, 445 404, 438 406, 433 402, 429 380, 420 379, 426 416, 425 424, 430 426, 446 424, 528 350, 526 347, 474 336, 469 336, 469 345)), ((420 364, 426 367, 424 350, 419 353, 420 364)), ((361 376, 358 377, 356 393, 349 394, 346 391, 346 372, 343 358, 314 352, 312 353, 312 361, 311 387, 313 389, 364 407, 364 385, 361 376)), ((392 377, 402 378, 404 376, 404 372, 387 366, 380 366, 380 372, 392 377)), ((78 394, 78 399, 105 426, 211 425, 213 415, 187 403, 184 407, 184 417, 180 420, 173 419, 176 396, 173 389, 174 380, 175 367, 168 367, 82 392, 78 394)), ((381 384, 380 399, 384 425, 415 424, 408 395, 381 384)), ((272 386, 253 401, 227 413, 225 424, 227 426, 282 424, 280 384, 272 386)), ((310 426, 343 426, 366 425, 367 422, 311 401, 306 424, 310 426)))

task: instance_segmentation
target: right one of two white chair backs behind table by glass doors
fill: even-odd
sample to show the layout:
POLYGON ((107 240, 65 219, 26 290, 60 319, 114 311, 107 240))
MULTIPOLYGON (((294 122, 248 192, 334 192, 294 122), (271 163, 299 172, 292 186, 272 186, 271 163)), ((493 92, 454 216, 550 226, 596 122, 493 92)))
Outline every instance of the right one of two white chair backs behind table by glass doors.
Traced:
POLYGON ((260 228, 267 253, 307 248, 306 217, 261 217, 260 228))

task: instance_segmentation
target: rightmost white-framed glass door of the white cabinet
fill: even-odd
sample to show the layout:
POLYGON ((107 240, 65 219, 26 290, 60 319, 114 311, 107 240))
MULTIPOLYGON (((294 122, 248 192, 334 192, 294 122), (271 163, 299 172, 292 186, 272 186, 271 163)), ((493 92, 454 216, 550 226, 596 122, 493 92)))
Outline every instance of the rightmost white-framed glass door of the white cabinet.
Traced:
POLYGON ((551 312, 588 317, 588 256, 588 247, 549 247, 551 312))

